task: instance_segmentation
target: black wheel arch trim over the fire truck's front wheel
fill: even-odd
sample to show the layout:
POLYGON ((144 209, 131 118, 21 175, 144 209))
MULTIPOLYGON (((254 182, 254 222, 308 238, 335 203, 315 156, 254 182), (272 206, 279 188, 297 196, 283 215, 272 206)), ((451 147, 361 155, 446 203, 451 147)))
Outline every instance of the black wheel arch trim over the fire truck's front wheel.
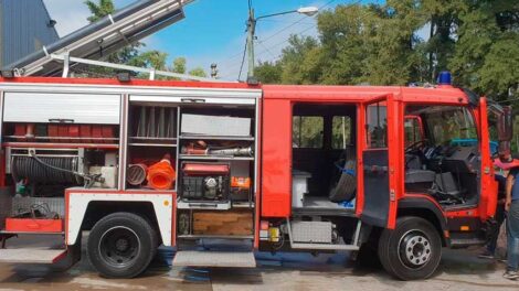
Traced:
POLYGON ((431 200, 426 197, 404 197, 399 201, 396 216, 416 216, 426 219, 433 224, 438 231, 439 237, 442 238, 442 245, 444 247, 449 246, 449 240, 446 236, 448 228, 445 215, 439 206, 431 200))

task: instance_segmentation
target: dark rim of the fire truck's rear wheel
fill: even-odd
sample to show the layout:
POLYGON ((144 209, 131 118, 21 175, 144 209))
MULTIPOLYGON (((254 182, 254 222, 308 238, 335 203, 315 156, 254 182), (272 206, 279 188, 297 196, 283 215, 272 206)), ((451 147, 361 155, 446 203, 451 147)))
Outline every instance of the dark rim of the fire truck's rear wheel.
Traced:
POLYGON ((114 268, 125 268, 133 265, 140 254, 140 239, 128 227, 112 227, 100 237, 98 251, 105 263, 114 268))

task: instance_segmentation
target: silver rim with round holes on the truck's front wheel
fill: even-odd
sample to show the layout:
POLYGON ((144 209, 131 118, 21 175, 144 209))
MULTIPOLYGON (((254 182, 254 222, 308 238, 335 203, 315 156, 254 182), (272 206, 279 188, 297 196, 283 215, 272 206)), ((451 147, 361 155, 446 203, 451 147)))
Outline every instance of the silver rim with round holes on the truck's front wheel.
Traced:
POLYGON ((424 267, 432 258, 431 240, 421 230, 405 233, 399 242, 399 259, 412 269, 424 267))

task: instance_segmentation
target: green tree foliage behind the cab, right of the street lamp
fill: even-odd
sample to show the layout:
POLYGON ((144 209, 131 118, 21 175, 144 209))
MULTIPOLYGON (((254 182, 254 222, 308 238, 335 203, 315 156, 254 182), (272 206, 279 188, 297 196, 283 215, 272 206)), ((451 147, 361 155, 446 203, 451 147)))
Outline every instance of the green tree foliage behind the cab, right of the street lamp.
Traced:
POLYGON ((260 80, 406 85, 449 69, 456 85, 480 95, 519 97, 518 1, 339 4, 317 25, 316 37, 293 35, 278 61, 260 63, 260 80))

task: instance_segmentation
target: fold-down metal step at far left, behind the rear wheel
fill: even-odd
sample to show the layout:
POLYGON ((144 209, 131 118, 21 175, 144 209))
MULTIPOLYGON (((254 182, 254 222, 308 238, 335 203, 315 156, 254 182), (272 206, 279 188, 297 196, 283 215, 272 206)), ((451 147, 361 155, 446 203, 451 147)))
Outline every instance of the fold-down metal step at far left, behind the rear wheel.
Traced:
POLYGON ((0 262, 55 263, 66 257, 66 249, 0 249, 0 262))

